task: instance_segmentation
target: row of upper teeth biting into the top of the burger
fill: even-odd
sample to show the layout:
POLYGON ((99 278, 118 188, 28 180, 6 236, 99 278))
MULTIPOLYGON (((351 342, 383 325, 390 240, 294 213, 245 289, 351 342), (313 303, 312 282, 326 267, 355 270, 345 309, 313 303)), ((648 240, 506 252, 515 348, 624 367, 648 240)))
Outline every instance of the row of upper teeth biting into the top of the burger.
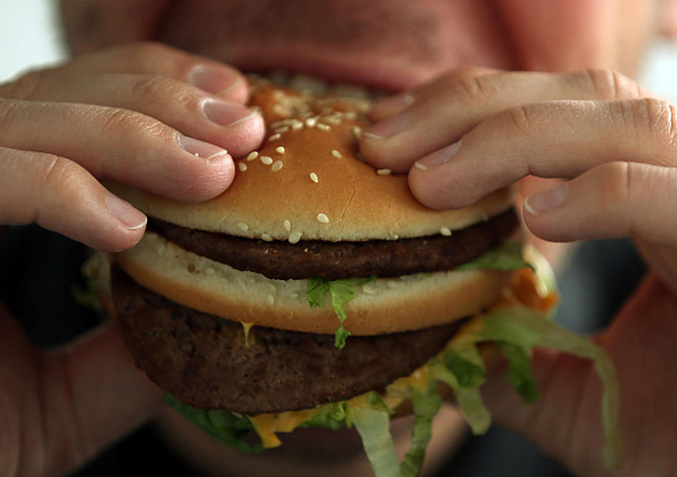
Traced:
POLYGON ((293 88, 303 93, 311 93, 313 95, 332 94, 341 98, 374 101, 375 99, 381 99, 388 94, 383 90, 366 88, 365 86, 356 84, 330 83, 324 79, 302 75, 300 73, 272 71, 267 75, 257 76, 275 84, 279 84, 280 86, 287 86, 287 88, 293 88))

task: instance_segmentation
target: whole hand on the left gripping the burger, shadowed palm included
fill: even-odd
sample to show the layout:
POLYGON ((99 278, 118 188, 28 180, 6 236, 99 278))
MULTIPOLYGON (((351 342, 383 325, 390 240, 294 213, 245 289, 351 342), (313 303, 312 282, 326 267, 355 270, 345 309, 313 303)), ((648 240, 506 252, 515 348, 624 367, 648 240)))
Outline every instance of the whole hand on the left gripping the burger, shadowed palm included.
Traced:
MULTIPOLYGON (((132 246, 146 217, 99 179, 182 202, 218 195, 231 155, 263 140, 247 94, 233 68, 154 43, 0 85, 0 226, 37 222, 96 249, 132 246)), ((159 405, 110 324, 38 351, 0 305, 0 475, 63 474, 159 405)))

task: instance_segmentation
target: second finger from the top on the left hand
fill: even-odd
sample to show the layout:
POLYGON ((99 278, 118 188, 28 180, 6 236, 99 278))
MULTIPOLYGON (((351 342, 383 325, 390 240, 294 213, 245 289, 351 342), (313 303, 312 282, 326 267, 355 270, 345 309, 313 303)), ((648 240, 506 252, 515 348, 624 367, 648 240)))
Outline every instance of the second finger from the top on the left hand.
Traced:
POLYGON ((137 111, 238 157, 256 148, 265 127, 258 113, 181 81, 157 75, 93 73, 64 81, 32 75, 0 87, 0 96, 30 101, 97 104, 137 111))

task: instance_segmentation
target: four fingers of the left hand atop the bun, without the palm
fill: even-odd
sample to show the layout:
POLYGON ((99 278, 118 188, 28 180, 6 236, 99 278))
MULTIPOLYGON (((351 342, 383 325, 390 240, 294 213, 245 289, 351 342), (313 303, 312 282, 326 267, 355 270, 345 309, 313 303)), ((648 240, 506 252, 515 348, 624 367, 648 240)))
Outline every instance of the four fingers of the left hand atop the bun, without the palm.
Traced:
POLYGON ((37 222, 95 249, 133 246, 145 215, 99 179, 180 202, 218 195, 232 157, 263 140, 247 95, 237 70, 158 43, 0 84, 0 226, 37 222))

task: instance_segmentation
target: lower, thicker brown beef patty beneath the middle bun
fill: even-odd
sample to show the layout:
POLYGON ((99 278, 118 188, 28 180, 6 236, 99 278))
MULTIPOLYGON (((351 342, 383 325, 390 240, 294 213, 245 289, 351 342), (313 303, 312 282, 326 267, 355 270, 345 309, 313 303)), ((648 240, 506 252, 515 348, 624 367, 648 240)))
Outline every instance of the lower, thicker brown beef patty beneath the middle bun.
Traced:
POLYGON ((452 338, 459 322, 379 336, 252 327, 176 304, 113 268, 120 333, 136 364, 178 400, 242 414, 305 409, 383 389, 410 375, 452 338))

